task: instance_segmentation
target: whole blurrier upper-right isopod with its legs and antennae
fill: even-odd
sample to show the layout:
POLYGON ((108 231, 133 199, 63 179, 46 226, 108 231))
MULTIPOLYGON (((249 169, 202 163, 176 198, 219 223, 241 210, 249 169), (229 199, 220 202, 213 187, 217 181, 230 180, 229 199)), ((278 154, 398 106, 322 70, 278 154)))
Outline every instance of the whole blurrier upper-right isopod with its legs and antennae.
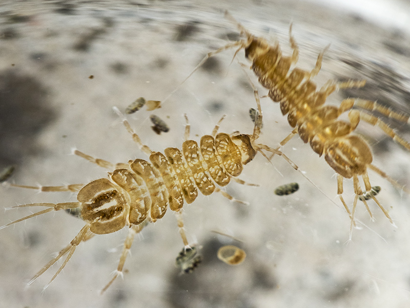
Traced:
POLYGON ((225 13, 225 16, 237 25, 241 36, 244 38, 209 52, 188 78, 209 57, 234 47, 238 48, 234 55, 236 56, 241 49, 244 49, 245 57, 252 62, 251 69, 258 77, 259 83, 269 89, 268 95, 274 102, 280 103, 282 114, 288 114, 288 122, 294 128, 292 133, 280 142, 280 146, 283 146, 293 136, 299 134, 303 142, 309 142, 312 149, 319 156, 323 155, 326 162, 337 172, 337 194, 351 217, 350 239, 352 237, 352 228, 355 224, 354 214, 358 200, 364 202, 368 213, 373 219, 372 212, 366 203, 367 199, 363 196, 373 199, 388 220, 394 225, 386 209, 377 200, 376 194, 371 193, 372 185, 370 184, 367 170, 375 171, 397 188, 403 189, 407 194, 410 193, 410 190, 399 185, 395 180, 387 176, 384 171, 373 165, 370 147, 361 137, 352 132, 356 129, 360 120, 363 120, 379 127, 387 136, 407 150, 410 150, 410 143, 399 137, 391 127, 373 115, 372 112, 376 111, 388 118, 404 123, 410 122, 409 115, 395 112, 391 108, 381 106, 373 101, 354 98, 343 100, 339 106, 325 105, 327 97, 334 91, 343 88, 363 87, 365 80, 348 80, 345 82, 330 80, 318 89, 316 84, 311 81, 311 78, 319 73, 323 54, 329 46, 319 53, 316 65, 311 71, 302 70, 295 67, 299 57, 299 48, 292 35, 292 25, 289 35, 293 53, 291 56, 283 56, 277 42, 270 45, 264 38, 252 35, 228 12, 225 13), (348 111, 348 122, 339 120, 339 116, 346 111, 348 111), (359 177, 363 179, 365 192, 361 189, 359 177), (355 199, 352 211, 342 197, 344 178, 353 178, 355 199))

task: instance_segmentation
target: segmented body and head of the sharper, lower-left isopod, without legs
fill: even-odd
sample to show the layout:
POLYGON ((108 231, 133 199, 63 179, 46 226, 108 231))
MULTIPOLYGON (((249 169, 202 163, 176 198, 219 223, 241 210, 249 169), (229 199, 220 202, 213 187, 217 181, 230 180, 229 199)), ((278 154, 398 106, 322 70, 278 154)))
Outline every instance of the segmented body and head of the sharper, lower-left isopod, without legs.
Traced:
POLYGON ((129 161, 130 169, 110 172, 112 182, 99 179, 83 187, 77 196, 82 202, 81 217, 92 223, 91 231, 97 234, 140 224, 148 215, 155 221, 165 215, 168 206, 175 211, 182 208, 183 199, 192 203, 197 189, 207 196, 214 192, 214 182, 227 185, 255 154, 248 135, 230 137, 226 133, 218 133, 215 139, 203 136, 199 146, 187 140, 182 152, 171 147, 164 154, 152 152, 151 163, 129 161))

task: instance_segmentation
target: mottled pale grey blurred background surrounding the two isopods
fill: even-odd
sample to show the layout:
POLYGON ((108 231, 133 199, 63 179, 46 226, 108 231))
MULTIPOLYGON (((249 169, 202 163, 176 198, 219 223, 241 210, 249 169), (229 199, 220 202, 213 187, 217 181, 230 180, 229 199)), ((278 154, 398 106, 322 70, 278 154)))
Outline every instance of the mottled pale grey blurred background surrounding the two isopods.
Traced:
MULTIPOLYGON (((16 165, 10 180, 15 183, 64 185, 105 177, 104 169, 70 156, 72 147, 112 162, 146 159, 112 106, 124 110, 141 96, 163 100, 204 54, 236 40, 238 31, 223 18, 225 9, 252 33, 272 42, 277 38, 285 53, 293 22, 300 46, 298 66, 304 69, 311 69, 320 50, 331 44, 315 81, 365 78, 368 83, 360 90, 333 94, 330 103, 360 96, 410 112, 406 1, 367 6, 356 1, 350 9, 280 0, 0 4, 0 168, 16 165)), ((215 56, 154 111, 170 132, 155 134, 146 110, 130 116, 142 141, 158 151, 180 147, 183 113, 190 119, 191 137, 198 141, 222 114, 227 118, 221 131, 250 133, 248 110, 255 101, 237 61, 230 65, 233 52, 215 56)), ((247 63, 243 51, 237 59, 247 63)), ((248 74, 256 83, 252 71, 248 74)), ((261 95, 266 93, 260 89, 261 95)), ((278 105, 261 101, 260 141, 276 146, 291 128, 278 105)), ((389 123, 410 140, 407 125, 389 123)), ((370 125, 360 124, 360 132, 373 148, 375 164, 408 186, 410 154, 370 125)), ((43 215, 0 230, 0 307, 408 307, 408 196, 371 172, 372 184, 382 186, 379 200, 398 228, 373 202, 375 222, 359 204, 357 218, 367 227, 354 229, 353 242, 346 245, 350 220, 336 197, 335 172, 298 138, 283 151, 339 206, 281 158, 274 159, 273 167, 258 156, 240 178, 260 187, 227 187, 249 206, 230 203, 220 194, 199 196, 185 206, 189 240, 202 247, 203 255, 193 274, 180 276, 174 267, 182 242, 176 219, 168 213, 136 237, 124 280, 118 279, 103 296, 99 290, 117 266, 126 230, 81 243, 42 294, 57 266, 31 286, 26 283, 84 225, 66 213, 43 215), (296 194, 273 194, 276 186, 289 182, 299 183, 296 194), (243 243, 216 236, 215 229, 243 243), (244 263, 231 267, 216 258, 217 249, 227 243, 247 252, 244 263)), ((353 201, 352 186, 345 181, 348 204, 353 201)), ((72 194, 0 189, 2 207, 75 201, 72 194)), ((4 211, 0 225, 29 213, 4 211)))

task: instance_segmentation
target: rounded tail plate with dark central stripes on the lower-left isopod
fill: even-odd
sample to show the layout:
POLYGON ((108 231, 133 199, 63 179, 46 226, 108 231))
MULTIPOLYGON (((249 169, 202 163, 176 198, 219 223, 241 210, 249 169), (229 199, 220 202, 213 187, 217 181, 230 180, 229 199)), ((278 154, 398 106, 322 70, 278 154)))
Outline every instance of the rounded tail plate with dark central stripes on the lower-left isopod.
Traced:
POLYGON ((126 224, 124 196, 108 179, 98 179, 84 186, 77 195, 81 218, 90 223, 91 232, 108 234, 126 224))

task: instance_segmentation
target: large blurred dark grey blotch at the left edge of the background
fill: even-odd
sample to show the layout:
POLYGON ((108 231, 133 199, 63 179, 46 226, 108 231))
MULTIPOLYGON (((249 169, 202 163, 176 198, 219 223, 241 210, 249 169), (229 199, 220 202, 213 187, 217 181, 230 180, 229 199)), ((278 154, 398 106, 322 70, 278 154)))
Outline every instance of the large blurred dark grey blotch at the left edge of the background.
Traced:
POLYGON ((37 78, 14 69, 0 72, 0 163, 19 164, 39 151, 35 137, 55 119, 48 99, 37 78))

